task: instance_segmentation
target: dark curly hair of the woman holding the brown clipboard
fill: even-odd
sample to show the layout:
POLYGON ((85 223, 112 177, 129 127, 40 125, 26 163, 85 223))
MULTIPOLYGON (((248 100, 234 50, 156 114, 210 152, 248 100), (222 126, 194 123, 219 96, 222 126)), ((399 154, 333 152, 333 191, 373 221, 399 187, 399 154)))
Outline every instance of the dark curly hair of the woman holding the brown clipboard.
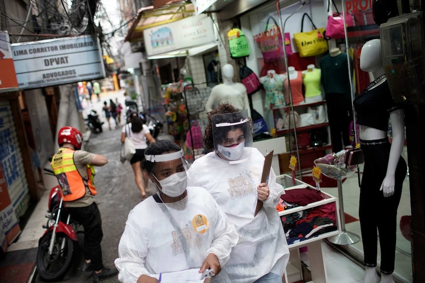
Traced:
MULTIPOLYGON (((214 150, 214 140, 215 143, 221 143, 226 137, 227 137, 227 132, 222 132, 219 136, 213 136, 213 124, 211 122, 211 117, 215 114, 227 114, 227 113, 236 113, 236 112, 240 112, 241 110, 239 110, 238 108, 235 108, 234 106, 232 106, 230 103, 228 102, 221 102, 220 104, 218 104, 218 106, 216 108, 214 108, 212 111, 208 112, 208 123, 207 126, 205 127, 205 132, 204 132, 204 147, 207 151, 211 152, 214 150)), ((219 123, 221 122, 227 122, 227 123, 235 123, 235 122, 239 122, 242 119, 246 118, 245 116, 243 116, 242 114, 236 114, 234 115, 231 120, 229 121, 229 117, 220 117, 218 116, 215 120, 219 123), (222 119, 222 121, 220 120, 220 118, 222 119)), ((252 129, 252 125, 251 125, 251 120, 249 118, 249 126, 252 129)), ((242 125, 237 125, 234 126, 234 128, 242 128, 245 129, 244 126, 242 125)), ((245 135, 247 135, 248 133, 245 133, 245 135)))

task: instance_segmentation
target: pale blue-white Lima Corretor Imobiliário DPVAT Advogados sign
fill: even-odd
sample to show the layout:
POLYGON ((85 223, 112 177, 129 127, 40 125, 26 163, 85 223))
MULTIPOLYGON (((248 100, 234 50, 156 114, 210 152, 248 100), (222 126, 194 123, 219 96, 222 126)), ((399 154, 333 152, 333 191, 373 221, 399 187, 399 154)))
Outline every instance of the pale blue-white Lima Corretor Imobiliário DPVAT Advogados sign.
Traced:
POLYGON ((99 39, 90 35, 12 44, 19 89, 104 78, 99 39))

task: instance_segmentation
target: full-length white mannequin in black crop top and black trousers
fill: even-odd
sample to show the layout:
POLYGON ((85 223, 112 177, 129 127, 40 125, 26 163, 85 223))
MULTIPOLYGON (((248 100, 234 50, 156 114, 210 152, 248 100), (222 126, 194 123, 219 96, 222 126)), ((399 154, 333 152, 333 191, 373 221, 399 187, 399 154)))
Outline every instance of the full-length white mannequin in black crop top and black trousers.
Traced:
POLYGON ((371 72, 375 79, 369 90, 366 88, 354 99, 360 125, 360 147, 365 157, 359 204, 366 271, 364 283, 394 283, 397 208, 407 171, 401 157, 404 110, 391 97, 379 39, 363 45, 360 68, 371 72), (393 134, 391 144, 387 137, 388 117, 393 134), (381 280, 376 273, 377 230, 381 246, 381 280))

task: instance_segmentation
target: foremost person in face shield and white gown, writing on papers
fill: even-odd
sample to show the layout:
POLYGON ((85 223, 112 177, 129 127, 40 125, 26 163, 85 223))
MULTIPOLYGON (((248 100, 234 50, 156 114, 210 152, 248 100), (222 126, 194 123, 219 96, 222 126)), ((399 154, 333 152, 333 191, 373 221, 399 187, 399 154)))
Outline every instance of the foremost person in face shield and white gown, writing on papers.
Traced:
POLYGON ((187 187, 183 151, 160 140, 146 149, 142 167, 158 193, 129 213, 115 260, 118 280, 157 283, 151 274, 211 268, 212 283, 230 283, 222 265, 238 234, 210 193, 187 187))

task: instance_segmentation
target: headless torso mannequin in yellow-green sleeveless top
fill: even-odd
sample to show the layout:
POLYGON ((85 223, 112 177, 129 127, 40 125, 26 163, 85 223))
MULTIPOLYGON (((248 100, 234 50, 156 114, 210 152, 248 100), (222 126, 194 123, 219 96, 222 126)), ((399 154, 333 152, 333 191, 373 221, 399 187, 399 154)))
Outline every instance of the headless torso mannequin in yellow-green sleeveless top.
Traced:
POLYGON ((302 71, 303 83, 306 89, 305 101, 306 103, 314 103, 323 100, 321 96, 320 86, 320 69, 316 68, 314 64, 307 65, 307 69, 302 71))

